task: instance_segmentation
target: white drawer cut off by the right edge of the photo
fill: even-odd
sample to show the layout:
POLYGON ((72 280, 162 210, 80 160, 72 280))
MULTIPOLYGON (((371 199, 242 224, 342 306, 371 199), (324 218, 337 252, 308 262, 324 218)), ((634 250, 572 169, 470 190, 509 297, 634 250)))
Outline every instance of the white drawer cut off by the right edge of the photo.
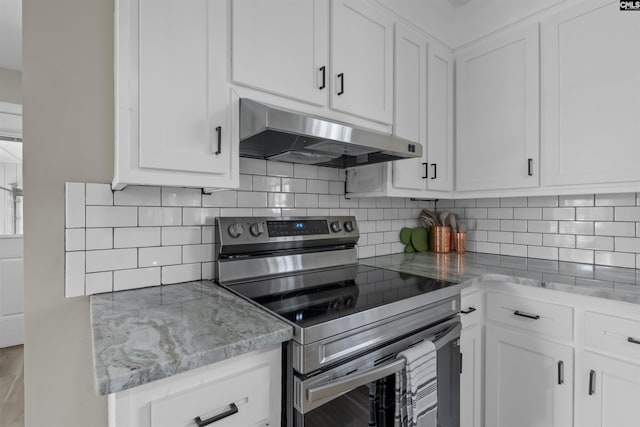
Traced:
POLYGON ((640 360, 640 321, 586 312, 585 344, 609 353, 640 360))

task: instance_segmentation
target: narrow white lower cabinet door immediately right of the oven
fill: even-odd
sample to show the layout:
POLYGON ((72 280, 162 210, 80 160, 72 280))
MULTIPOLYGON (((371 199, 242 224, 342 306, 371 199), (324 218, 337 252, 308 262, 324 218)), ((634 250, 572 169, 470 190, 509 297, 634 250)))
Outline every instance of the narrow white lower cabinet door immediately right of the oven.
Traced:
POLYGON ((482 425, 482 325, 462 330, 460 336, 460 425, 482 425))

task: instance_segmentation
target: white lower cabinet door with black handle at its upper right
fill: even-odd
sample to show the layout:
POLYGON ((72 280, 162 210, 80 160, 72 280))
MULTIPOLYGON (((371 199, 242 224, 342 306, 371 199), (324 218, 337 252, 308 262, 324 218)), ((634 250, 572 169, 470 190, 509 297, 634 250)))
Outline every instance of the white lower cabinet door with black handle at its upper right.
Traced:
POLYGON ((485 338, 485 425, 573 425, 571 347, 493 325, 485 338))

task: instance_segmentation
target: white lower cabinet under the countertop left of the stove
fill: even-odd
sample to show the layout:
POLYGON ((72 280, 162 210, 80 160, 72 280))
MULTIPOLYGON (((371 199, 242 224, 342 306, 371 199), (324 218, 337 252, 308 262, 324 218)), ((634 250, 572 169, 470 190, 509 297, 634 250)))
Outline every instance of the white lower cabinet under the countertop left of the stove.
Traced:
POLYGON ((278 345, 111 394, 109 426, 279 426, 281 372, 278 345))

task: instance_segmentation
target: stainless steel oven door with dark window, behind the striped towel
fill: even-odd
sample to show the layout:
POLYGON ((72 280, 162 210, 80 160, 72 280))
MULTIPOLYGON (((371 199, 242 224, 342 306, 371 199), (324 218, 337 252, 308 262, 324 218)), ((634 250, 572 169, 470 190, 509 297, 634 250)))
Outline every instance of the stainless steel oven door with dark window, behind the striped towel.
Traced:
MULTIPOLYGON (((433 341, 438 355, 438 426, 460 425, 460 321, 418 331, 381 349, 312 376, 293 377, 293 422, 297 427, 393 426, 396 355, 433 341)), ((291 412, 289 412, 291 414, 291 412)))

